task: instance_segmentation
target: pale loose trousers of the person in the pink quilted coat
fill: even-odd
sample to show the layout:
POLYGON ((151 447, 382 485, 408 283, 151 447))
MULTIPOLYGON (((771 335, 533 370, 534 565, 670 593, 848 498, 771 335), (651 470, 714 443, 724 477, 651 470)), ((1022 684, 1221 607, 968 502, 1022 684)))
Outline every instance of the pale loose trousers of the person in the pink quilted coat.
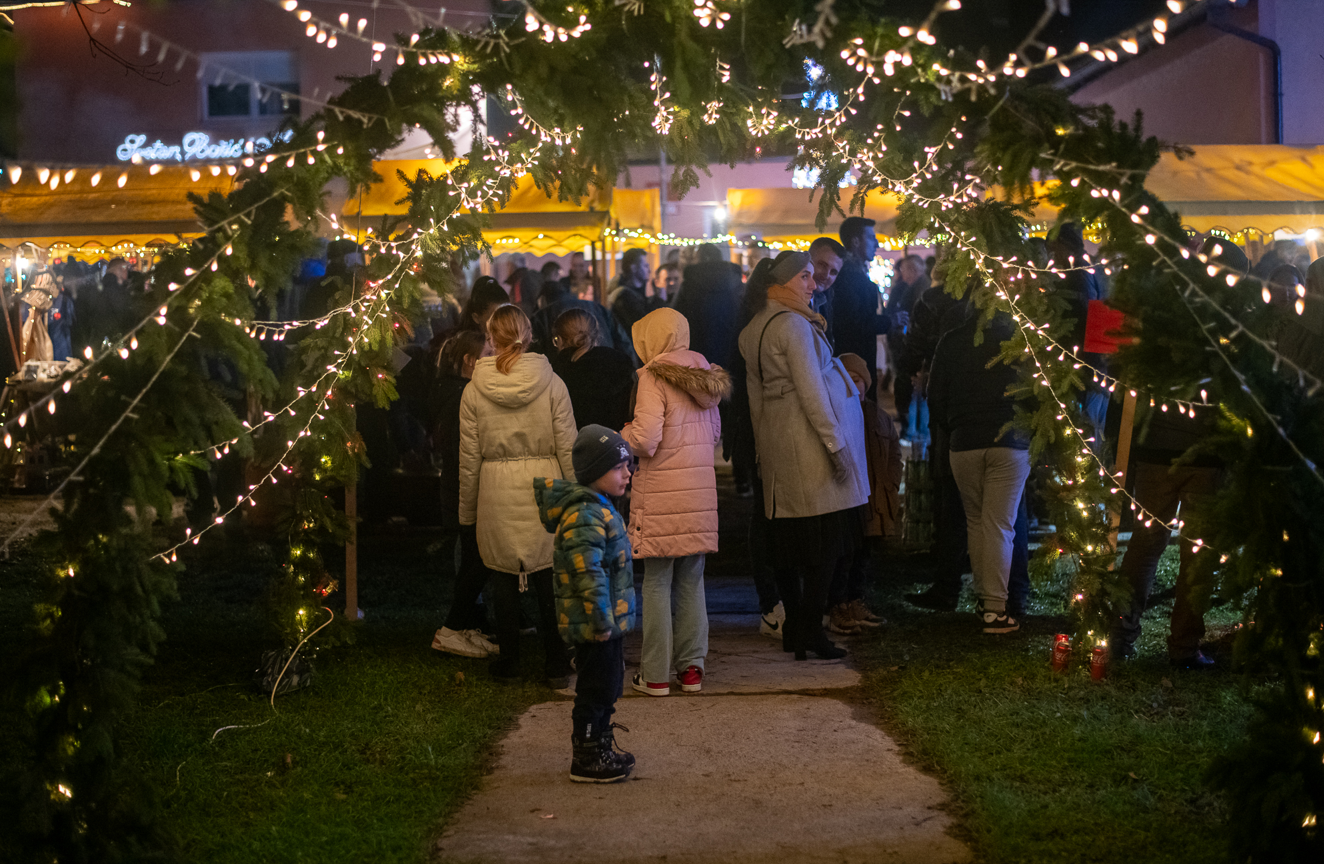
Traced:
POLYGON ((643 560, 643 656, 639 673, 650 684, 671 680, 671 671, 703 668, 708 656, 708 603, 703 595, 703 558, 643 560), (675 611, 673 613, 673 605, 675 611))

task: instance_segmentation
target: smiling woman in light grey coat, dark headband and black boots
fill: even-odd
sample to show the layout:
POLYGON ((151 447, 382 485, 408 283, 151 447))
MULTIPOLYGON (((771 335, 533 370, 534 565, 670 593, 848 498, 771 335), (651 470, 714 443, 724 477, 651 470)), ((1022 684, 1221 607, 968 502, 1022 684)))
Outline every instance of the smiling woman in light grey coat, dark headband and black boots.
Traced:
POLYGON ((865 415, 859 390, 831 356, 826 323, 809 307, 809 255, 782 253, 760 266, 747 291, 764 287, 767 302, 739 344, 786 607, 782 647, 797 660, 806 651, 835 659, 845 651, 824 635, 822 615, 833 569, 849 550, 849 511, 869 500, 865 415))

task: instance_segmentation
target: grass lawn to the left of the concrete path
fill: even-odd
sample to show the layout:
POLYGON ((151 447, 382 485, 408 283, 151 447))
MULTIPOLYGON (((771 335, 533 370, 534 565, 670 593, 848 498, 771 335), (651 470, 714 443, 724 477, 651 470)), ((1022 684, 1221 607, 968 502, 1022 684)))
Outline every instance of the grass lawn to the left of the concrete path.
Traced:
MULTIPOLYGON (((428 859, 494 740, 548 693, 532 663, 540 651, 526 652, 535 655, 526 685, 498 687, 485 660, 429 648, 450 586, 446 556, 429 550, 437 540, 360 541, 367 614, 355 644, 320 651, 314 687, 278 696, 274 711, 252 673, 274 647, 262 601, 279 553, 262 544, 199 549, 205 554, 180 580, 169 639, 123 730, 126 761, 162 797, 177 860, 428 859), (225 726, 236 728, 217 732, 225 726)), ((11 570, 20 590, 7 591, 4 625, 30 602, 23 574, 38 565, 11 570)), ((339 614, 343 597, 332 599, 339 614)))

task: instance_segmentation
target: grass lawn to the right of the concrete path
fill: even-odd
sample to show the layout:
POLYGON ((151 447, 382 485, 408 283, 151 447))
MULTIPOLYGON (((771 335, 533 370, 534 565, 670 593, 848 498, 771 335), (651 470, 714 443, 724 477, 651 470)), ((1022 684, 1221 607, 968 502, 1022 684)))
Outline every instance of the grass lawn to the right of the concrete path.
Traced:
MULTIPOLYGON (((1176 576, 1174 553, 1156 591, 1176 576)), ((1168 666, 1170 601, 1147 613, 1139 658, 1098 683, 1087 668, 1055 675, 1049 666, 1053 634, 1066 630, 1061 585, 1037 586, 1037 614, 1021 632, 985 636, 970 605, 935 614, 904 603, 920 566, 903 564, 884 582, 876 601, 894 626, 862 640, 857 656, 866 699, 943 779, 981 860, 1227 859, 1225 804, 1204 774, 1242 734, 1250 708, 1226 668, 1168 666)), ((1206 621, 1214 636, 1237 617, 1223 607, 1206 621)))

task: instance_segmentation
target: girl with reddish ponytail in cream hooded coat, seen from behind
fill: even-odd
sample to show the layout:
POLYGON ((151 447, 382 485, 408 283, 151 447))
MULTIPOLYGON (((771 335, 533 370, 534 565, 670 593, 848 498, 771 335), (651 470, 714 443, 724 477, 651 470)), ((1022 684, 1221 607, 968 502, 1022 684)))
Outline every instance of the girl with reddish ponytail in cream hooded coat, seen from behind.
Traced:
POLYGON ((538 516, 534 478, 575 476, 575 413, 547 357, 526 353, 532 328, 519 307, 498 308, 487 335, 496 356, 474 365, 459 402, 459 524, 477 523, 478 552, 491 572, 500 644, 493 675, 519 675, 519 591, 532 585, 547 681, 561 689, 571 666, 556 628, 552 536, 538 516))

